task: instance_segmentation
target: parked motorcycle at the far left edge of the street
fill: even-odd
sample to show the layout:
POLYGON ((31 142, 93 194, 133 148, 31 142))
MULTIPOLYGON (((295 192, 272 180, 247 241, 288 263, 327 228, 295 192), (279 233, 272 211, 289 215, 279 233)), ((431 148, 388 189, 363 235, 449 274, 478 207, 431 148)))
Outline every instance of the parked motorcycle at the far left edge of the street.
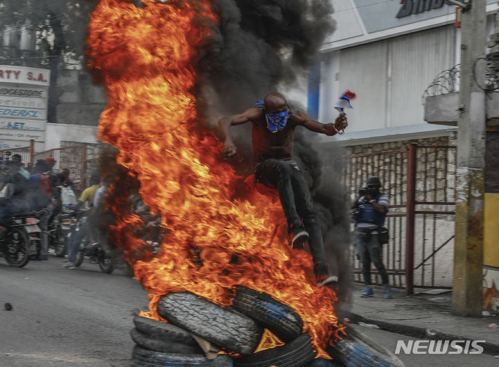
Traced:
POLYGON ((38 226, 43 212, 12 215, 0 231, 0 253, 10 266, 19 268, 38 256, 41 230, 38 226))

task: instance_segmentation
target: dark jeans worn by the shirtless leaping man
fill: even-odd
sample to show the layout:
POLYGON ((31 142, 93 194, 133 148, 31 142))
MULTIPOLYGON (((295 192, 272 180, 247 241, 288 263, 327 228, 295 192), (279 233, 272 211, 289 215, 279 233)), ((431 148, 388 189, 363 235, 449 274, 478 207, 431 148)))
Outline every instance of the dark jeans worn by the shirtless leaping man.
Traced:
POLYGON ((288 232, 301 228, 308 232, 310 236, 308 244, 313 257, 315 274, 329 273, 322 232, 315 215, 312 195, 296 162, 264 160, 256 167, 255 177, 263 185, 279 191, 281 205, 288 221, 288 232))

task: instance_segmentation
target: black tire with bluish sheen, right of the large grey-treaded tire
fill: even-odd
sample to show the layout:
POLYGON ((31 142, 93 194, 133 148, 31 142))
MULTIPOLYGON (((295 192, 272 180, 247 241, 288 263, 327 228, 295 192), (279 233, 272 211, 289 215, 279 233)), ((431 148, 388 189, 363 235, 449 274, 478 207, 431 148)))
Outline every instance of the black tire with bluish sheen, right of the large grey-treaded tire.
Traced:
POLYGON ((284 342, 297 339, 303 332, 300 316, 266 293, 238 287, 232 308, 252 318, 284 342))

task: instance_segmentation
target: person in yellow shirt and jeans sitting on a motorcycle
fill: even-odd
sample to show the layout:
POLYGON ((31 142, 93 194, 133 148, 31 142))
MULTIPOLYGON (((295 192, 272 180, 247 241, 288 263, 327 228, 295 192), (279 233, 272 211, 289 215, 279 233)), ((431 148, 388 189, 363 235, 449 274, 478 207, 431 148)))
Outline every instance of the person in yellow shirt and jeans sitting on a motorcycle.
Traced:
MULTIPOLYGON (((100 177, 98 174, 94 173, 90 177, 89 184, 85 190, 82 191, 80 198, 78 198, 78 204, 73 205, 71 209, 79 210, 81 207, 89 207, 90 210, 94 208, 94 196, 99 187, 100 177)), ((90 213, 89 213, 90 215, 90 213)), ((91 243, 94 243, 94 231, 93 228, 89 228, 89 222, 85 222, 85 225, 82 225, 78 232, 73 236, 73 241, 71 241, 71 248, 69 248, 69 258, 68 261, 62 264, 62 268, 74 269, 76 268, 74 262, 76 260, 76 253, 78 253, 78 248, 80 248, 80 244, 85 236, 90 237, 91 243)))

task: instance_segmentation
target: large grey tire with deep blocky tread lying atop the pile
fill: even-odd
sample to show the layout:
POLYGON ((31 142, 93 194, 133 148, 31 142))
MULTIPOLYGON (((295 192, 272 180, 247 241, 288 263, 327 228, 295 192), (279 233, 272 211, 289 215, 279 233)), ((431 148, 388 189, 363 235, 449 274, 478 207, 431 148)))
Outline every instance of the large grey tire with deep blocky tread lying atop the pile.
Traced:
POLYGON ((193 293, 169 293, 157 310, 170 323, 241 355, 251 355, 263 333, 250 318, 193 293))

